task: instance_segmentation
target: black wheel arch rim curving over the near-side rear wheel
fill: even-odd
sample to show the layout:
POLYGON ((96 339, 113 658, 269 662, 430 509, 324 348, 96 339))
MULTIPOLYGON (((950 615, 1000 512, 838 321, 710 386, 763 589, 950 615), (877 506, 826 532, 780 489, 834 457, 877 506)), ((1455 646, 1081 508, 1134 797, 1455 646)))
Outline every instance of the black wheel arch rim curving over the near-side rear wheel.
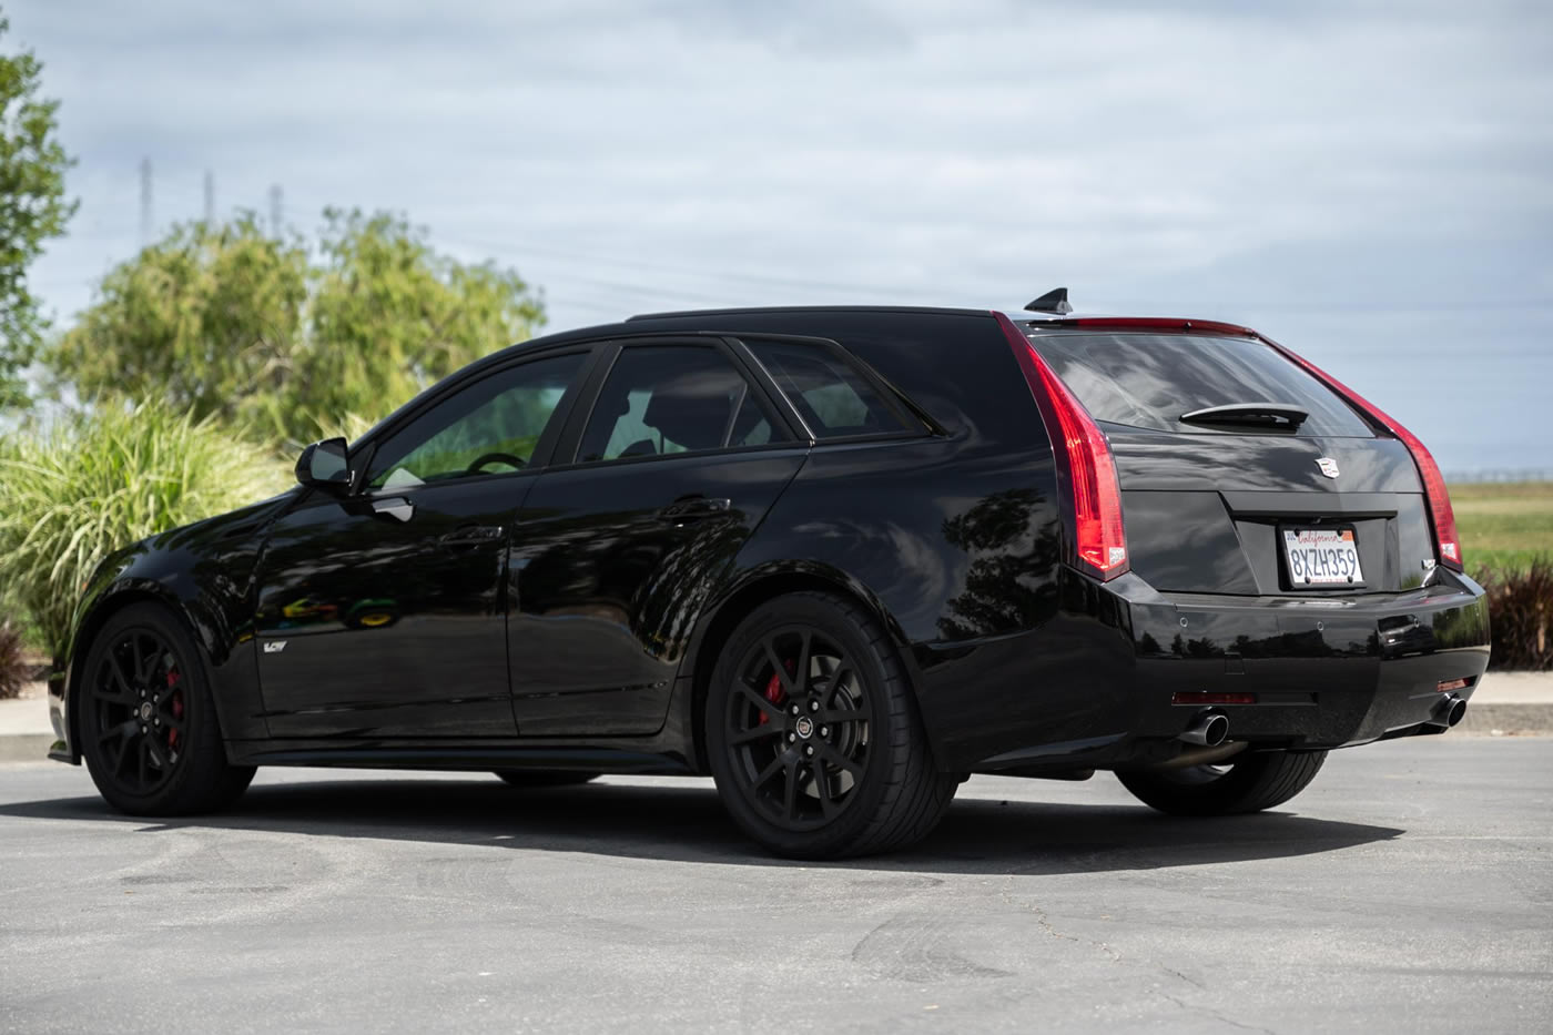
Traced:
MULTIPOLYGON (((828 564, 806 563, 756 569, 738 580, 700 622, 699 631, 686 653, 691 681, 690 730, 697 771, 711 771, 707 758, 707 692, 711 687, 711 671, 717 667, 717 657, 722 654, 724 643, 733 636, 733 629, 756 608, 776 597, 797 592, 825 592, 865 608, 884 625, 905 668, 912 693, 918 692, 916 665, 913 664, 904 629, 890 614, 888 608, 884 606, 884 601, 862 581, 828 564)), ((929 738, 932 740, 930 730, 929 738)))

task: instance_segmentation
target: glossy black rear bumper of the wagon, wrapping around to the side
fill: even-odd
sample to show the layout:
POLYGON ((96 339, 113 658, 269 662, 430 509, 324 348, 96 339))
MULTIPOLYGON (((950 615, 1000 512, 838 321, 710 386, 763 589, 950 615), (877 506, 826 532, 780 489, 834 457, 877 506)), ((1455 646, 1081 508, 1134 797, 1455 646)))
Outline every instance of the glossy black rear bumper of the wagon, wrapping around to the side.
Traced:
MULTIPOLYGON (((1044 688, 1082 679, 1082 696, 1037 713, 1051 693, 1030 695, 1019 709, 1028 713, 1005 712, 995 734, 981 727, 980 743, 954 744, 950 765, 1149 765, 1179 754, 1177 738, 1207 710, 1225 715, 1228 738, 1252 748, 1317 751, 1441 732, 1447 693, 1469 699, 1488 667, 1483 589, 1454 572, 1424 589, 1365 597, 1160 594, 1135 575, 1084 581, 1065 594, 1062 619, 1093 629, 1082 667, 1023 674, 1027 687, 1044 688), (1440 690, 1449 681, 1466 685, 1440 690), (1205 693, 1255 702, 1176 702, 1205 693)), ((1039 651, 1051 631, 1030 632, 1025 646, 1039 651)))

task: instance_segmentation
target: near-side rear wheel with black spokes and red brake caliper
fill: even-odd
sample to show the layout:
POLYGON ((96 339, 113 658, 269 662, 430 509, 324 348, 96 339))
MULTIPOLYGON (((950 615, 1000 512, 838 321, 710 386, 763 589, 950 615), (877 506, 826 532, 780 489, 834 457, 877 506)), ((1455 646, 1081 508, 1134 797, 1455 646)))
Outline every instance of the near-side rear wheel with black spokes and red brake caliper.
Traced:
POLYGON ((781 856, 902 849, 938 825, 960 786, 933 765, 885 631, 829 594, 776 597, 739 623, 717 656, 704 729, 728 814, 781 856))

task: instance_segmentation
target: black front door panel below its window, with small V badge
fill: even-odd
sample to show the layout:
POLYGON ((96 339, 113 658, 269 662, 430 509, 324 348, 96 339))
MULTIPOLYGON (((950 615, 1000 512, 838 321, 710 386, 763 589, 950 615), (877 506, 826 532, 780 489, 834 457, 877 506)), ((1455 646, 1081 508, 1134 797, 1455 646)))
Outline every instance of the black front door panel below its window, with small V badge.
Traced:
POLYGON ((512 734, 505 536, 534 477, 407 490, 408 521, 371 497, 281 518, 256 623, 270 734, 512 734))

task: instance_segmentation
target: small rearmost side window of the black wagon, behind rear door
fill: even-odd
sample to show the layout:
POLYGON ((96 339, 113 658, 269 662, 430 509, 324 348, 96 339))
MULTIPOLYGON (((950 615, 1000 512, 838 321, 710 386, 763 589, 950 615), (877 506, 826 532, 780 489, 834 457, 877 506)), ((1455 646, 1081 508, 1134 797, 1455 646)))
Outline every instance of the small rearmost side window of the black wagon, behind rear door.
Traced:
POLYGON ((919 430, 845 359, 820 345, 745 340, 815 438, 919 430))

